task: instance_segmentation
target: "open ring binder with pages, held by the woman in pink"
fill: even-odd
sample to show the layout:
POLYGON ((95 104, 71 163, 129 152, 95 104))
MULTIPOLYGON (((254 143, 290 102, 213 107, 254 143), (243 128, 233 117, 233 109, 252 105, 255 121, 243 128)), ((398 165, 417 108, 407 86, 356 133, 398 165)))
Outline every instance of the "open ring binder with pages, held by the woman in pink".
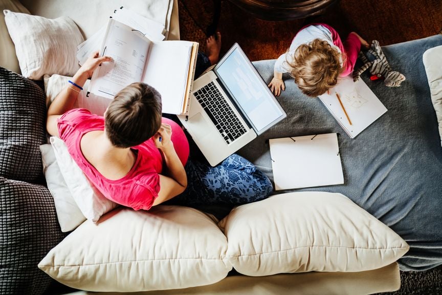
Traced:
POLYGON ((100 55, 114 61, 103 62, 94 71, 90 92, 112 99, 130 83, 144 82, 161 94, 163 113, 186 114, 197 51, 196 42, 151 41, 109 18, 100 55))

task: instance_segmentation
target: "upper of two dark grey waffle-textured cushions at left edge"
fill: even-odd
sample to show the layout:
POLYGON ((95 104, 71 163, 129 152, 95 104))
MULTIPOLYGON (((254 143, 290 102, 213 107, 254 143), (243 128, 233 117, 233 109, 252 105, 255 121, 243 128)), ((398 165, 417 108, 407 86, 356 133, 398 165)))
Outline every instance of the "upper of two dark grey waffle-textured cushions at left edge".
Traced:
POLYGON ((0 67, 0 176, 42 183, 45 99, 33 81, 0 67))

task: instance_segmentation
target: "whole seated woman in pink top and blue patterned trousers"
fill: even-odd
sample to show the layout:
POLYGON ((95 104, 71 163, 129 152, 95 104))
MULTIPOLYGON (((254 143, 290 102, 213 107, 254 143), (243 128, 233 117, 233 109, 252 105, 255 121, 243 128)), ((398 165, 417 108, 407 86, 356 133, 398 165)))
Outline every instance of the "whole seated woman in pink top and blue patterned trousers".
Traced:
POLYGON ((147 210, 175 196, 180 196, 177 203, 194 207, 233 206, 269 196, 270 180, 238 155, 216 167, 188 159, 186 135, 178 124, 161 117, 161 95, 145 83, 121 90, 104 117, 72 109, 86 79, 109 60, 98 52, 91 56, 51 103, 47 119, 49 134, 63 139, 106 198, 147 210))

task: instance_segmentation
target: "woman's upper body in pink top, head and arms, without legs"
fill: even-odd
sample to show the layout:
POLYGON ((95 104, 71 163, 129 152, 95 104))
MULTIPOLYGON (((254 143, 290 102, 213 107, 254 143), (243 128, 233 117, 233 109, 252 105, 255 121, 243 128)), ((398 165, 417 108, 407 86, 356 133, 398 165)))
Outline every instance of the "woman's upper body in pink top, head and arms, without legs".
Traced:
POLYGON ((120 91, 104 118, 84 109, 71 110, 86 79, 101 62, 110 60, 95 52, 85 62, 51 103, 47 129, 65 141, 71 156, 105 197, 134 209, 149 209, 187 187, 187 140, 182 134, 180 158, 171 139, 172 131, 180 137, 180 128, 172 130, 170 121, 162 122, 161 96, 144 83, 132 83, 120 91))

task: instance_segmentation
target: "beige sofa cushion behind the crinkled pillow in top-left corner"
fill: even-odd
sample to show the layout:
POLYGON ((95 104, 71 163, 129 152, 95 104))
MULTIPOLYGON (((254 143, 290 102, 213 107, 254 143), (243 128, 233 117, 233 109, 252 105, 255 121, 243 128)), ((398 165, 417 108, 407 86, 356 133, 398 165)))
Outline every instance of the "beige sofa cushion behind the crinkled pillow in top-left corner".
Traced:
POLYGON ((29 11, 18 0, 0 0, 0 40, 2 40, 0 42, 0 67, 20 74, 14 43, 5 24, 5 15, 3 14, 5 9, 22 13, 29 13, 29 11))

